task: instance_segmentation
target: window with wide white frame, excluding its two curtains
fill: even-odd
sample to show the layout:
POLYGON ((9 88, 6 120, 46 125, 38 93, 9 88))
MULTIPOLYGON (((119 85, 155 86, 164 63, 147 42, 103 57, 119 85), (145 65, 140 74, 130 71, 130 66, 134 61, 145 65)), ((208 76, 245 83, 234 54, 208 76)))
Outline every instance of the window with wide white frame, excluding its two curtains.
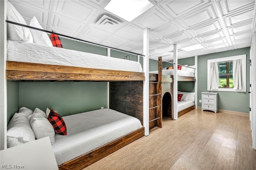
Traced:
MULTIPOLYGON (((223 57, 217 59, 208 59, 207 60, 207 82, 208 82, 208 91, 239 91, 239 92, 246 92, 246 54, 244 55, 236 55, 232 57, 223 57), (234 82, 233 82, 233 60, 235 59, 242 59, 242 89, 236 90, 234 89, 234 82), (210 63, 217 62, 218 63, 218 81, 219 86, 218 89, 210 89, 209 87, 209 77, 210 75, 210 63)), ((216 86, 215 86, 216 87, 216 86)))

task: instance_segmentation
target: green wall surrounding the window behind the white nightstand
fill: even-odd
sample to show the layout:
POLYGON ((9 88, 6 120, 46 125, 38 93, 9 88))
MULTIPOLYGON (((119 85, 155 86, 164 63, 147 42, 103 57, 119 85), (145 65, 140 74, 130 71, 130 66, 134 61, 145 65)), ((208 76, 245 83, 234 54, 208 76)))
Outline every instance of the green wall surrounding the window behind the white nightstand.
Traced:
MULTIPOLYGON (((201 92, 207 92, 207 60, 242 54, 246 54, 247 60, 250 59, 250 47, 198 56, 198 106, 202 106, 199 103, 202 98, 201 92)), ((246 91, 248 91, 249 86, 250 67, 246 64, 246 91)), ((249 107, 249 102, 250 99, 247 92, 218 91, 218 109, 249 113, 247 108, 249 107)))

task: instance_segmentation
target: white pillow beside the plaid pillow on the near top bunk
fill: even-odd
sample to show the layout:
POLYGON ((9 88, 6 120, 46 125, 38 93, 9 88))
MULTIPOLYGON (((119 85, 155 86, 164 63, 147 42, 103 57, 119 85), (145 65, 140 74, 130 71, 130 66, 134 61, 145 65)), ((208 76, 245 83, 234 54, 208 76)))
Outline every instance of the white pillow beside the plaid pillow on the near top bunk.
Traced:
MULTIPOLYGON (((44 29, 39 24, 39 22, 38 22, 38 20, 36 19, 35 16, 30 21, 29 26, 40 28, 42 30, 44 29)), ((34 29, 30 29, 30 31, 31 31, 31 34, 33 36, 34 43, 39 43, 39 44, 42 44, 42 45, 52 46, 52 42, 51 42, 51 40, 50 40, 50 38, 49 38, 49 36, 47 35, 46 32, 42 32, 42 31, 38 31, 38 30, 34 30, 34 29)))

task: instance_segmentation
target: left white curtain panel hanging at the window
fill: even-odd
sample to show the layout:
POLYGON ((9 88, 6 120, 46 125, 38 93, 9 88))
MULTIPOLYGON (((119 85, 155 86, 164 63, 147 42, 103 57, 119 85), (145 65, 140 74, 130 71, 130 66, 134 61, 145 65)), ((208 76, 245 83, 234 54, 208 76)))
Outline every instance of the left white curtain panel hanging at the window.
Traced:
POLYGON ((216 90, 219 88, 218 62, 210 62, 210 72, 208 79, 208 89, 216 90))

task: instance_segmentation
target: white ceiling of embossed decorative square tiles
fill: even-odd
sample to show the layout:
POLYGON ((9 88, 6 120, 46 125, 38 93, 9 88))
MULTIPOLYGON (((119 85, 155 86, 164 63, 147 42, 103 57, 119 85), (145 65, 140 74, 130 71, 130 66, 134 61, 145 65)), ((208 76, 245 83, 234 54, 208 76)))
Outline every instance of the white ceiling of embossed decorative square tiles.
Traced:
POLYGON ((179 59, 250 47, 254 0, 149 1, 154 6, 128 22, 104 10, 110 0, 10 0, 28 24, 36 16, 46 30, 135 53, 149 28, 151 59, 172 60, 173 44, 179 59), (198 43, 204 48, 181 49, 198 43))

